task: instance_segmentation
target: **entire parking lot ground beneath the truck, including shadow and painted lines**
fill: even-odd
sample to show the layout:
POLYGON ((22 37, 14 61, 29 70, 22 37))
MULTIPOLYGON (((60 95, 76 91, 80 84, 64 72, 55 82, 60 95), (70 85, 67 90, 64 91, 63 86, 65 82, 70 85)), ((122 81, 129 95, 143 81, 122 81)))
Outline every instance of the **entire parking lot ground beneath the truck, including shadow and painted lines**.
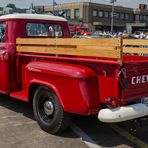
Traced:
POLYGON ((74 116, 67 131, 51 135, 39 128, 31 104, 0 96, 0 148, 148 147, 147 123, 138 123, 135 131, 130 122, 104 124, 96 117, 74 116))

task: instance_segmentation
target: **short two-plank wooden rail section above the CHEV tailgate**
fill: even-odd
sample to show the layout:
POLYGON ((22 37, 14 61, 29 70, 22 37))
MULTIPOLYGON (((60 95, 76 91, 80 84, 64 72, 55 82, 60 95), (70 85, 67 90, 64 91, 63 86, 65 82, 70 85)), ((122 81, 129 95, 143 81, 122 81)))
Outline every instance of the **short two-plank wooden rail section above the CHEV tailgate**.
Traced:
POLYGON ((124 39, 123 52, 129 54, 148 54, 148 40, 124 39))

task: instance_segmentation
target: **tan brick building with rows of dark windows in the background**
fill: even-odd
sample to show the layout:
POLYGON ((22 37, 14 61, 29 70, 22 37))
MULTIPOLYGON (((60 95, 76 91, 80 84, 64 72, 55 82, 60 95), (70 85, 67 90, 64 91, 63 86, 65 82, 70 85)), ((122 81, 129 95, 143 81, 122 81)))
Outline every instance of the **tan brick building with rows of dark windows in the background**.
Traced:
MULTIPOLYGON (((64 11, 65 18, 70 25, 84 24, 91 31, 110 31, 112 5, 97 4, 91 2, 66 3, 53 6, 36 6, 36 11, 54 13, 64 11)), ((148 10, 146 5, 141 4, 138 9, 122 6, 114 7, 114 28, 115 32, 128 30, 140 30, 148 27, 148 10), (143 7, 142 7, 143 6, 143 7)))

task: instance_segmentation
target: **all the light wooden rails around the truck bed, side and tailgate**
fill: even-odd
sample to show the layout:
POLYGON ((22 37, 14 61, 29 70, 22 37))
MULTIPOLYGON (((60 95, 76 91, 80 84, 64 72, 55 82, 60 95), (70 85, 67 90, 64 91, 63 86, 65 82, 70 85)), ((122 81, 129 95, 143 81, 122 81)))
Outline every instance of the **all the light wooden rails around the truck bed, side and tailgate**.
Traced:
POLYGON ((123 53, 148 54, 148 40, 80 39, 80 38, 18 38, 17 52, 102 57, 122 62, 123 53))

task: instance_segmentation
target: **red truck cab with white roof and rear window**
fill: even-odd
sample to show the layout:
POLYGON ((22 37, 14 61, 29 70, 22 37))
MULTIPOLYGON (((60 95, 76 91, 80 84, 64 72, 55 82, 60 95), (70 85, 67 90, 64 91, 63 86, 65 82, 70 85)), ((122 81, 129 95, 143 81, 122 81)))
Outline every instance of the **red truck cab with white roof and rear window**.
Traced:
POLYGON ((10 94, 20 88, 16 78, 16 38, 69 38, 64 18, 10 14, 0 17, 0 92, 10 94))

